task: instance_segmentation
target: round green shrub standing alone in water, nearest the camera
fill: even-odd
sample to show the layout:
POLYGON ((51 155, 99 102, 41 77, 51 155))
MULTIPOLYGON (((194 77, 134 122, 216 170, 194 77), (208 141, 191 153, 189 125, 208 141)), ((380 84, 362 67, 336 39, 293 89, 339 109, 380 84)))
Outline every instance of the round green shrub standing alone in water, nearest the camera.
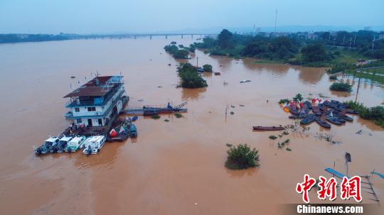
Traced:
POLYGON ((247 144, 239 144, 227 150, 228 158, 225 162, 225 167, 231 170, 242 170, 248 167, 259 166, 259 151, 247 144))

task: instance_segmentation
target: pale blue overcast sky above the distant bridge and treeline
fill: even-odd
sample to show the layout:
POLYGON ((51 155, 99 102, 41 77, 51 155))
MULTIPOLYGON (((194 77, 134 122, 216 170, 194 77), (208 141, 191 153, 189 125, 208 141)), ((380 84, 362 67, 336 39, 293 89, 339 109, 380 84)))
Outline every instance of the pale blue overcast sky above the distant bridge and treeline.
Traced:
POLYGON ((185 28, 380 26, 384 0, 0 0, 0 33, 147 33, 185 28))

